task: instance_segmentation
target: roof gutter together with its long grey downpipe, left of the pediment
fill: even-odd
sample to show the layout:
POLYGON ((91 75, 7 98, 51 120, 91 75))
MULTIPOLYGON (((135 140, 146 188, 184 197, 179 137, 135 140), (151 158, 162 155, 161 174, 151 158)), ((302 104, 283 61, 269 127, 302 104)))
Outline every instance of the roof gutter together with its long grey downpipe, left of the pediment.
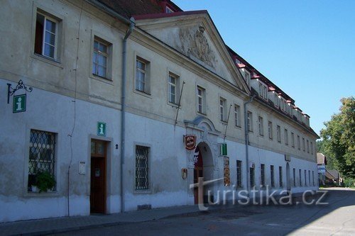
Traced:
POLYGON ((129 30, 126 31, 123 40, 123 50, 122 50, 122 84, 121 84, 121 162, 120 162, 120 193, 121 193, 121 213, 124 212, 124 156, 125 156, 125 135, 126 135, 126 51, 127 51, 127 39, 131 35, 133 28, 135 26, 134 18, 130 19, 121 16, 116 11, 110 9, 108 6, 102 4, 97 0, 85 0, 87 3, 108 13, 110 16, 117 18, 129 25, 129 30))

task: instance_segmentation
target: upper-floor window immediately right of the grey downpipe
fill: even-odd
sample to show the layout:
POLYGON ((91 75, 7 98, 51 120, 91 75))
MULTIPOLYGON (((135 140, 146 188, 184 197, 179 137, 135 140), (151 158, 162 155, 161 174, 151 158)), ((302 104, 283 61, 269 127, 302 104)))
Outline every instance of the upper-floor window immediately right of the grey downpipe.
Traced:
POLYGON ((136 90, 150 93, 149 62, 140 57, 136 58, 136 90))

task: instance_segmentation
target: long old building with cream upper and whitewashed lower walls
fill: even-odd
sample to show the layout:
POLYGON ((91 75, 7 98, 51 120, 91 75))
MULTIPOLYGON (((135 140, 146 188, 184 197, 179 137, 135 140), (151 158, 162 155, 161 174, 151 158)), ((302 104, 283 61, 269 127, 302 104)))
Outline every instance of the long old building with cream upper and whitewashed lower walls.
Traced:
POLYGON ((1 17, 0 222, 192 205, 198 177, 222 179, 204 200, 317 189, 310 117, 207 11, 16 0, 1 17), (53 189, 35 188, 41 172, 53 189))

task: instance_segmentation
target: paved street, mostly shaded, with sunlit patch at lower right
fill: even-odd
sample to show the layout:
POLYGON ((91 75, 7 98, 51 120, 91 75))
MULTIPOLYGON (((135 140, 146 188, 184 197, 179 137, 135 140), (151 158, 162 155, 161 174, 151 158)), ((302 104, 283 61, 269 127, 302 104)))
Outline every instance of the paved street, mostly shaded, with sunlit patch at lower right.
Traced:
POLYGON ((58 235, 355 235, 355 191, 331 189, 329 205, 239 206, 58 235))

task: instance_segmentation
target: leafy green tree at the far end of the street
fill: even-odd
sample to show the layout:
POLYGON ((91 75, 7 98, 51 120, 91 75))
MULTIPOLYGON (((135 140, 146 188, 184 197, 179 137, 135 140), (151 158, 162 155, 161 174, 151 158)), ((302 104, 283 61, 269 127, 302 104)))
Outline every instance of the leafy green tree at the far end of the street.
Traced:
POLYGON ((355 99, 353 96, 340 100, 340 113, 325 122, 320 131, 323 138, 320 149, 334 158, 334 166, 344 176, 355 177, 355 99))

